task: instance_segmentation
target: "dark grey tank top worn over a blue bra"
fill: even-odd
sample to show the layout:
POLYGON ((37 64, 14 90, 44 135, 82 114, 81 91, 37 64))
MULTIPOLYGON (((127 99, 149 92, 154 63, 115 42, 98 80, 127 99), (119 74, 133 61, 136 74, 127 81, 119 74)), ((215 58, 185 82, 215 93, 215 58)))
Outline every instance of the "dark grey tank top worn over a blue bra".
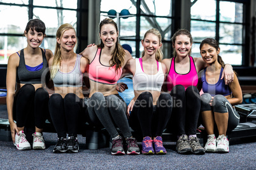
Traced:
POLYGON ((25 67, 24 49, 20 50, 20 63, 18 63, 16 82, 22 84, 41 84, 41 75, 48 67, 45 52, 43 49, 41 49, 41 51, 43 57, 43 68, 41 70, 31 72, 25 67))

